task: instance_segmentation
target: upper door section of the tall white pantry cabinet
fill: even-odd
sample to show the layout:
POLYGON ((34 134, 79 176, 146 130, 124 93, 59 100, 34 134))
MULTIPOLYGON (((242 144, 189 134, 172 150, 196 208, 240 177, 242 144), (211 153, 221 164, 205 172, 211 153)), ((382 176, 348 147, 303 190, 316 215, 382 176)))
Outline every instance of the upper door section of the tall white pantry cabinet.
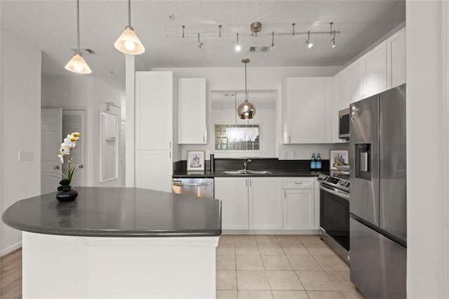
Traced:
POLYGON ((171 150, 177 128, 173 72, 137 72, 135 149, 171 150))

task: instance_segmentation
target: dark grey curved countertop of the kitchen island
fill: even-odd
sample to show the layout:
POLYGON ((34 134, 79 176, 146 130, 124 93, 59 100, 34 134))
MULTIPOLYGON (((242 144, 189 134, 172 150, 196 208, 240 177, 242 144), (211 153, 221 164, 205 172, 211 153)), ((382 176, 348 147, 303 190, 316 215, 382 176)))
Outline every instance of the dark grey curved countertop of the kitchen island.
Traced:
POLYGON ((2 220, 17 230, 80 237, 220 236, 221 203, 128 187, 74 187, 75 201, 55 192, 22 199, 2 220))

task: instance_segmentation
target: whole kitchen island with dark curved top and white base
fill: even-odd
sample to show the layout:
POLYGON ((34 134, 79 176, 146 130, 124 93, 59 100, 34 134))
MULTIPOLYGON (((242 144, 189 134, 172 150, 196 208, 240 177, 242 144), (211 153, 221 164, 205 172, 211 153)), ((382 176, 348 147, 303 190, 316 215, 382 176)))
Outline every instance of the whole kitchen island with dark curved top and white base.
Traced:
POLYGON ((221 203, 125 187, 17 201, 23 298, 214 298, 221 203))

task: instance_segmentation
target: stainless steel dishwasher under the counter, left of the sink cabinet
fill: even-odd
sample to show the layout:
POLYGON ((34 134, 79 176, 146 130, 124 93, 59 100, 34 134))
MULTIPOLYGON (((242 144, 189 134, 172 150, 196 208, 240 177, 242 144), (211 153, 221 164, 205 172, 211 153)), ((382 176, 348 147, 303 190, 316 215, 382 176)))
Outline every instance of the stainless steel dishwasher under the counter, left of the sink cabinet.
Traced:
POLYGON ((173 178, 173 193, 213 198, 213 178, 173 178))

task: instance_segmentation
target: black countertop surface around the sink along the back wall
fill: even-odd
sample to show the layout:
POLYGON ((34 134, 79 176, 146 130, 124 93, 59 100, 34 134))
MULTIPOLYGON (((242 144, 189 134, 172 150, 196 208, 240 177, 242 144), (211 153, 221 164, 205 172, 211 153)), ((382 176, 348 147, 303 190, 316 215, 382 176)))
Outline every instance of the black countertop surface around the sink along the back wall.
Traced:
POLYGON ((294 177, 294 176, 318 176, 320 173, 329 173, 329 171, 305 171, 294 169, 264 169, 269 174, 245 173, 245 174, 226 174, 225 170, 216 171, 178 171, 173 174, 173 178, 222 178, 222 177, 294 177))

